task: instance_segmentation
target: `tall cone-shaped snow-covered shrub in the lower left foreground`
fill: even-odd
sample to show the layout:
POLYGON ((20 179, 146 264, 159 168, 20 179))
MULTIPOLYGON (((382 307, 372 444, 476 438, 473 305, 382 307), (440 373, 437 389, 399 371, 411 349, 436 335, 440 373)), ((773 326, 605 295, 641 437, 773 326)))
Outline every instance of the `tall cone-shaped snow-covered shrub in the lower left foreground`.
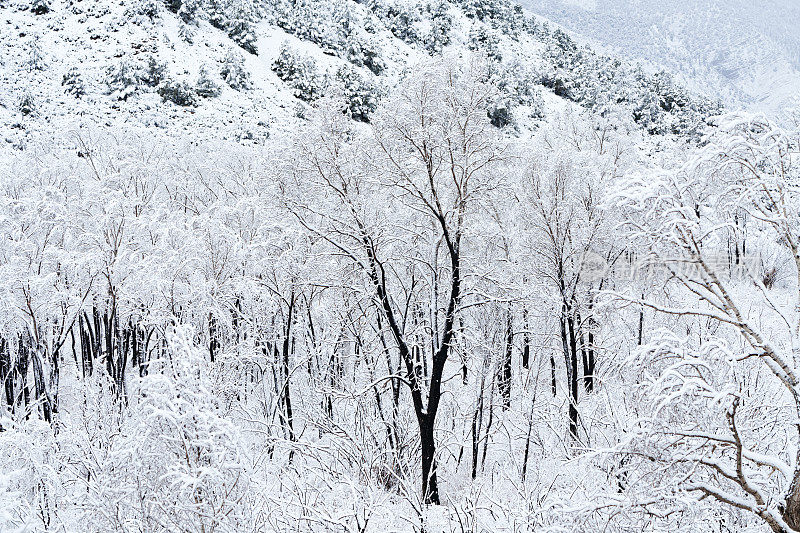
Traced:
POLYGON ((170 357, 141 379, 102 469, 90 483, 94 531, 257 531, 247 451, 213 392, 214 367, 169 334, 170 357))

